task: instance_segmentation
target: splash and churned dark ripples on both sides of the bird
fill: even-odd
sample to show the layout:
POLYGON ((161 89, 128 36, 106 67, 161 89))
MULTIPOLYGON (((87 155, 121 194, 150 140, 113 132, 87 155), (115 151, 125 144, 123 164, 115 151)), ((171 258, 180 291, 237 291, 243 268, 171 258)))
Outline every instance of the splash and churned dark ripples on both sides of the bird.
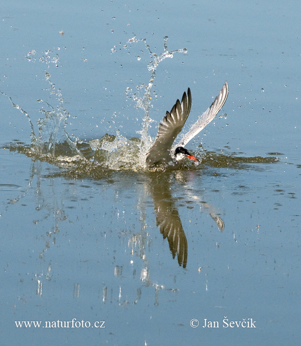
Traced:
MULTIPOLYGON (((154 86, 156 78, 157 67, 166 58, 173 58, 175 53, 187 53, 187 49, 178 49, 169 51, 167 42, 168 37, 164 38, 164 52, 157 55, 150 50, 146 39, 136 39, 134 36, 128 40, 128 44, 124 45, 124 49, 128 50, 130 45, 143 42, 144 46, 151 57, 150 62, 147 64, 147 69, 150 73, 149 81, 147 84, 141 84, 136 87, 136 91, 130 88, 126 89, 128 98, 136 102, 136 107, 141 108, 144 112, 142 128, 136 132, 139 134, 138 138, 126 138, 119 131, 116 135, 105 134, 99 139, 94 139, 89 142, 81 141, 78 138, 70 136, 66 131, 67 119, 70 114, 64 109, 64 99, 61 89, 56 88, 55 84, 51 81, 50 67, 61 67, 59 55, 51 50, 45 51, 41 58, 36 57, 36 51, 32 50, 26 55, 29 62, 40 62, 46 65, 44 70, 45 79, 49 84, 47 89, 50 95, 55 97, 56 106, 51 106, 48 102, 38 100, 39 103, 45 104, 49 109, 45 110, 43 107, 40 109, 42 117, 37 121, 38 135, 35 134, 34 125, 30 119, 29 114, 15 104, 11 97, 6 93, 0 91, 1 94, 8 97, 13 107, 19 109, 24 114, 31 126, 31 145, 24 145, 19 143, 9 145, 12 150, 19 150, 28 156, 56 164, 59 167, 64 167, 68 170, 71 176, 74 172, 78 176, 95 176, 98 177, 101 171, 108 170, 139 170, 146 169, 145 157, 146 152, 150 145, 153 143, 148 129, 152 122, 150 119, 150 108, 152 107, 151 91, 154 86)), ((58 48, 59 50, 59 48, 58 48)), ((138 59, 139 60, 139 59, 138 59)), ((250 163, 272 163, 276 162, 276 157, 255 157, 243 158, 236 157, 235 155, 224 155, 216 153, 204 153, 197 151, 197 154, 203 156, 202 167, 229 167, 245 166, 250 163)), ((194 152, 192 152, 194 154, 194 152)), ((194 154, 196 155, 196 154, 194 154)), ((192 168, 191 164, 183 163, 182 169, 187 167, 192 168)), ((192 169, 195 169, 193 167, 192 169)))

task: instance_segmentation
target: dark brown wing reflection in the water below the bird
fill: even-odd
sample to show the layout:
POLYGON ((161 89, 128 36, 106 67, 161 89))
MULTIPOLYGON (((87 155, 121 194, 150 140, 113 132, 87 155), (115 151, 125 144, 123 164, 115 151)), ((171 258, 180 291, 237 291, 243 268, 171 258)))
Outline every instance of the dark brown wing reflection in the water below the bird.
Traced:
POLYGON ((183 268, 187 265, 187 240, 179 213, 170 192, 170 176, 165 172, 152 172, 149 191, 154 201, 156 224, 160 227, 163 238, 167 238, 173 258, 178 256, 178 263, 183 268))

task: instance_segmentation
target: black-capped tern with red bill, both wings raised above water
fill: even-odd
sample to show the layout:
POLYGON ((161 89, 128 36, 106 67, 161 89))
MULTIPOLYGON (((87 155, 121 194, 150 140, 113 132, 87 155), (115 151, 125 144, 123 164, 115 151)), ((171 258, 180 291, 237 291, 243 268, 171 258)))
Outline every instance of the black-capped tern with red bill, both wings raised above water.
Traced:
POLYGON ((180 102, 178 99, 172 110, 167 111, 162 122, 159 123, 155 141, 146 152, 146 166, 148 168, 160 167, 169 164, 170 161, 177 162, 185 157, 200 162, 198 158, 190 154, 185 145, 214 119, 226 102, 228 92, 228 83, 225 82, 211 106, 199 116, 199 119, 182 139, 173 145, 190 113, 192 98, 190 88, 188 88, 187 93, 183 94, 182 101, 180 102))

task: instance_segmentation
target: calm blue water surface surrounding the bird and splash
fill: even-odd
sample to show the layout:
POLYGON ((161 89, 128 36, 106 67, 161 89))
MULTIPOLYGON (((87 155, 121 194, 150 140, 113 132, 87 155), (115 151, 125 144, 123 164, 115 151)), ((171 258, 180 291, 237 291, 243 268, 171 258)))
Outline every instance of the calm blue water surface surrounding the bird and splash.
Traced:
MULTIPOLYGON (((167 35, 169 50, 188 53, 158 67, 151 134, 187 87, 193 122, 227 80, 227 118, 188 146, 202 141, 216 153, 280 159, 207 164, 155 179, 122 171, 72 179, 62 168, 1 149, 2 344, 299 342, 299 13, 296 1, 2 4, 0 90, 34 123, 42 116, 38 99, 56 102, 46 90, 47 71, 71 114, 69 134, 89 140, 120 129, 135 136, 143 113, 125 90, 148 83, 150 58, 142 42, 128 40, 146 38, 160 54, 167 35), (35 62, 26 59, 33 50, 35 62), (58 68, 39 61, 48 50, 59 55, 58 68), (156 224, 156 179, 181 219, 186 269, 156 224), (223 328, 224 316, 253 318, 257 328, 223 328), (105 321, 105 328, 15 324, 72 318, 105 321), (199 327, 190 326, 193 318, 199 327), (219 328, 202 328, 204 318, 219 328)), ((29 144, 27 118, 0 96, 2 147, 29 144)))

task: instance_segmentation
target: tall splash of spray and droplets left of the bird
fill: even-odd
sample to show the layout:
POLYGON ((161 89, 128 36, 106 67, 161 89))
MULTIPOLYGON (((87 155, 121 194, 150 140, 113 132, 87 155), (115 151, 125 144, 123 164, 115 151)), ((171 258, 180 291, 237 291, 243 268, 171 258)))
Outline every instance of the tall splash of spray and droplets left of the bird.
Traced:
MULTIPOLYGON (((25 58, 29 62, 40 62, 46 65, 45 79, 49 83, 51 96, 56 99, 56 107, 51 106, 48 102, 38 100, 39 103, 44 103, 49 110, 40 109, 40 113, 43 114, 38 120, 39 132, 35 135, 33 123, 28 115, 20 106, 15 105, 12 99, 9 97, 13 106, 20 109, 23 114, 28 117, 31 125, 31 147, 26 153, 37 158, 56 162, 61 166, 61 163, 71 162, 74 164, 75 160, 79 160, 79 163, 93 163, 96 166, 105 167, 108 169, 145 169, 145 157, 146 151, 153 142, 152 137, 148 133, 149 123, 152 121, 149 117, 150 108, 152 106, 152 97, 150 93, 154 85, 156 77, 156 70, 158 65, 166 58, 173 58, 175 53, 186 53, 187 49, 178 49, 169 51, 167 47, 168 37, 164 38, 164 52, 160 55, 153 53, 150 50, 149 45, 146 43, 146 39, 136 39, 134 36, 128 40, 127 45, 123 45, 123 48, 128 50, 128 45, 137 44, 143 42, 147 52, 151 57, 151 61, 147 64, 147 69, 150 72, 150 78, 148 84, 142 84, 136 87, 136 92, 132 94, 132 99, 136 102, 136 107, 141 108, 144 112, 142 128, 137 130, 139 138, 127 139, 122 136, 119 131, 116 135, 105 134, 99 140, 93 140, 91 142, 83 142, 77 138, 71 137, 66 131, 67 119, 70 114, 64 109, 64 99, 61 93, 61 89, 56 88, 55 84, 51 81, 51 74, 49 72, 51 66, 56 68, 61 67, 59 55, 51 50, 46 50, 42 57, 36 57, 36 51, 30 51, 25 58)), ((59 48, 58 48, 59 50, 59 48)), ((132 93, 132 90, 127 88, 127 95, 132 93)), ((2 93, 7 96, 5 93, 2 93)), ((8 96, 7 96, 8 97, 8 96)), ((129 97, 129 96, 128 96, 129 97)), ((24 151, 24 148, 22 148, 24 151)))

